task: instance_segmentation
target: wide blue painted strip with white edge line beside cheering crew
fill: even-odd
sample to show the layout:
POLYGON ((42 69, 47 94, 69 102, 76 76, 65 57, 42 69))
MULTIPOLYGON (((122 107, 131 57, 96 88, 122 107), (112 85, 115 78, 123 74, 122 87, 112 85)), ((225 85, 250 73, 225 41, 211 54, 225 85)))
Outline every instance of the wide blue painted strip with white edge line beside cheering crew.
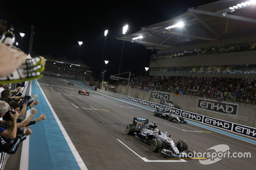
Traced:
POLYGON ((45 114, 46 119, 31 125, 28 169, 87 169, 36 80, 31 81, 30 92, 31 96, 37 94, 36 100, 39 101, 39 104, 34 106, 37 110, 34 118, 45 114))

